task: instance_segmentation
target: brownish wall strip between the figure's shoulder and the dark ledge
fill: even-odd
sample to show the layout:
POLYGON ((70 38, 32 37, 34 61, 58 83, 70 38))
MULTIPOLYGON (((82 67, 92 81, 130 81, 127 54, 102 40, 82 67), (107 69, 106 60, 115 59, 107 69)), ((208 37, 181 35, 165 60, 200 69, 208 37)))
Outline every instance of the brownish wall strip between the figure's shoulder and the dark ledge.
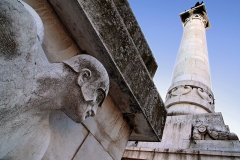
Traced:
POLYGON ((42 47, 50 62, 62 62, 82 53, 47 0, 24 1, 43 21, 45 35, 42 47))

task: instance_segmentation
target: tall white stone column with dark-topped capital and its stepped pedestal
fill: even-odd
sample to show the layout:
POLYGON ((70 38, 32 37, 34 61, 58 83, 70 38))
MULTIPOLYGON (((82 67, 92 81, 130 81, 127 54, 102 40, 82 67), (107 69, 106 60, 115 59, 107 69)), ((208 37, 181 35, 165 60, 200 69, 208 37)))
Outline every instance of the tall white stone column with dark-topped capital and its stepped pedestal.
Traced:
POLYGON ((162 142, 129 142, 123 159, 240 159, 236 134, 215 112, 205 30, 204 3, 180 14, 184 27, 172 84, 166 95, 162 142), (134 147, 135 146, 135 147, 134 147))

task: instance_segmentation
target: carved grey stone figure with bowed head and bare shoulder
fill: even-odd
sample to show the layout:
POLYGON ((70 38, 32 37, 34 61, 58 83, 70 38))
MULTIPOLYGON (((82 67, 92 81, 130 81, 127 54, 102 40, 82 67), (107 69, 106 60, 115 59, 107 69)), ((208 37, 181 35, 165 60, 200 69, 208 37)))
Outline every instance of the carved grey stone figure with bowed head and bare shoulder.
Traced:
POLYGON ((109 90, 107 71, 92 56, 49 63, 24 5, 0 1, 0 159, 42 159, 50 113, 61 110, 82 122, 96 114, 109 90))

